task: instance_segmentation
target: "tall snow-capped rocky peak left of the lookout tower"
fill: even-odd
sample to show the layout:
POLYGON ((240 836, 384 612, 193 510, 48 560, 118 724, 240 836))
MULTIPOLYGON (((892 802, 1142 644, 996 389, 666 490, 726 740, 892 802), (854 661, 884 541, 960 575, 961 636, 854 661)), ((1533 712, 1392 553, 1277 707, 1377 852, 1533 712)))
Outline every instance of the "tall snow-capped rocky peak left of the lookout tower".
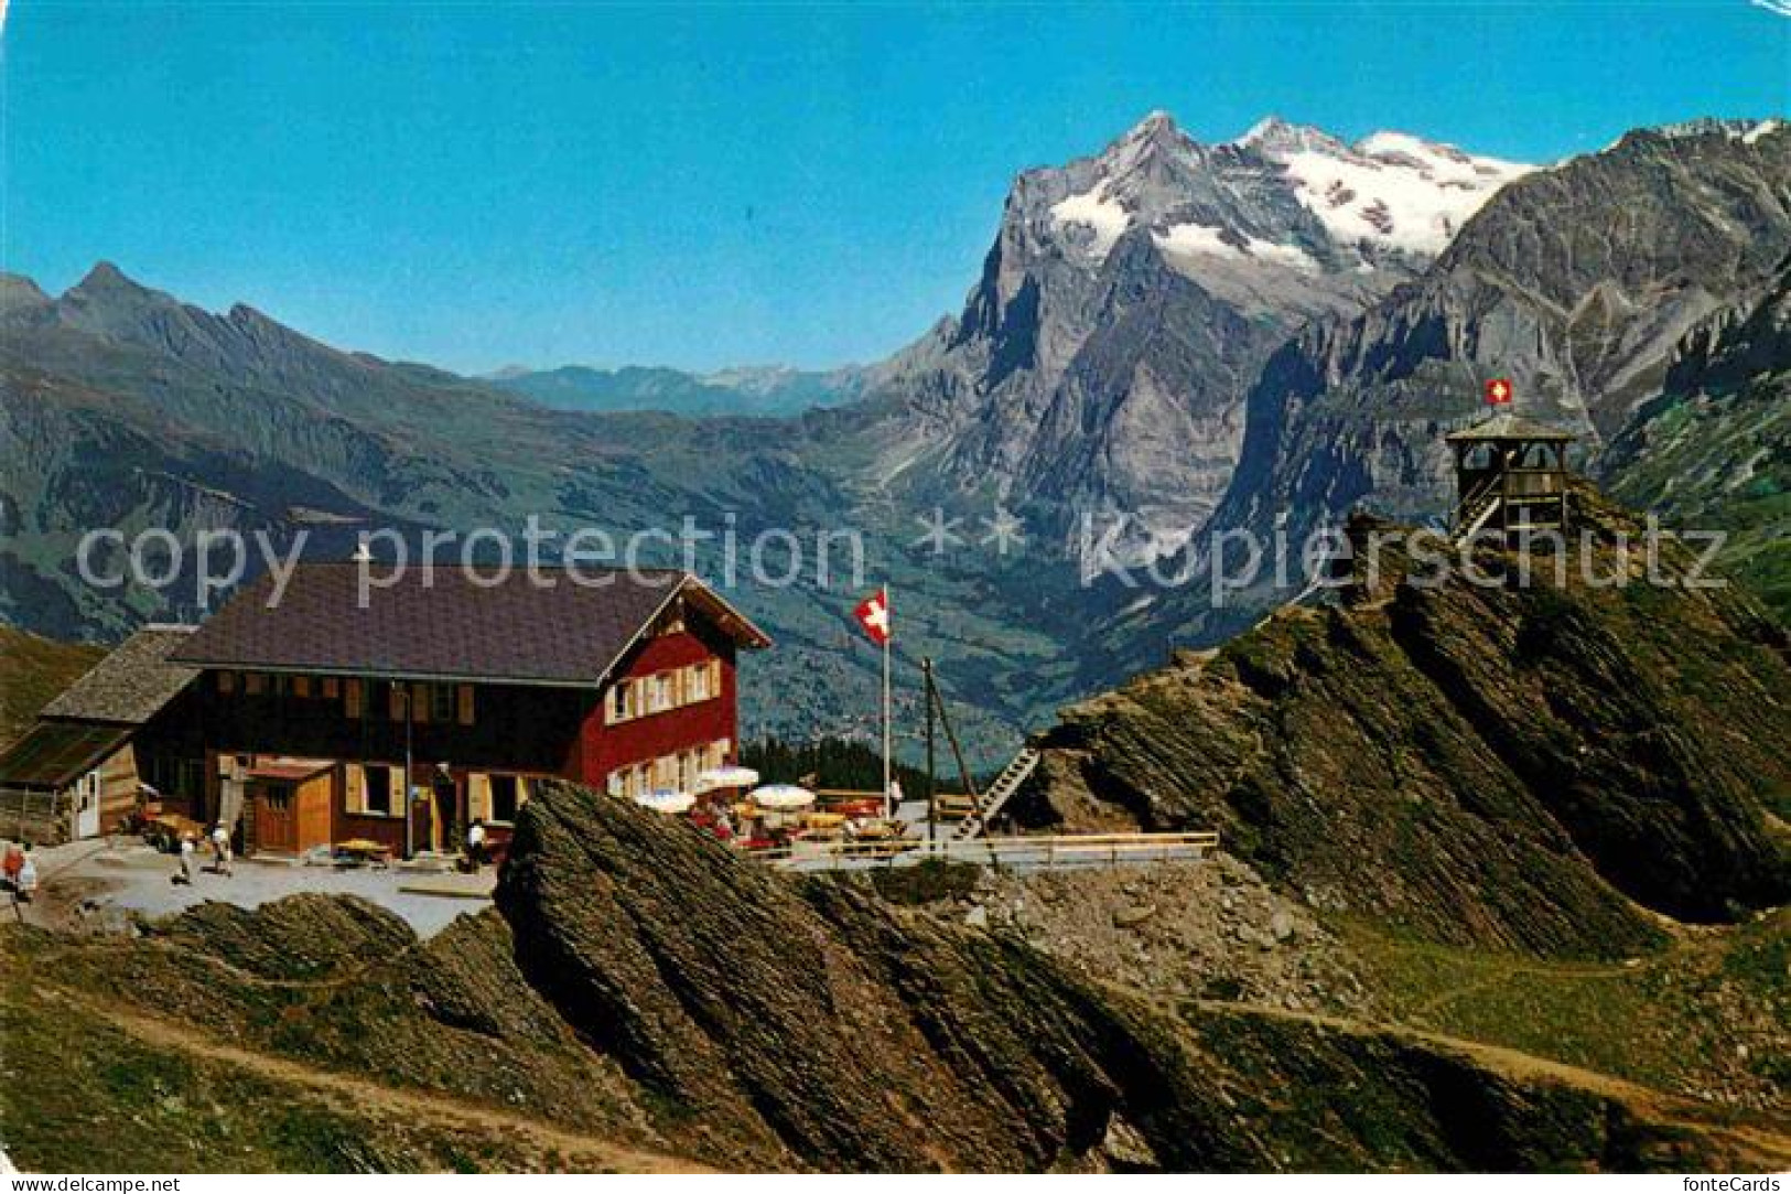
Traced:
POLYGON ((1302 323, 1354 312, 1526 167, 1264 120, 1202 145, 1153 113, 1015 179, 964 312, 897 357, 885 475, 998 493, 1067 541, 1127 515, 1173 550, 1230 480, 1243 396, 1302 323))

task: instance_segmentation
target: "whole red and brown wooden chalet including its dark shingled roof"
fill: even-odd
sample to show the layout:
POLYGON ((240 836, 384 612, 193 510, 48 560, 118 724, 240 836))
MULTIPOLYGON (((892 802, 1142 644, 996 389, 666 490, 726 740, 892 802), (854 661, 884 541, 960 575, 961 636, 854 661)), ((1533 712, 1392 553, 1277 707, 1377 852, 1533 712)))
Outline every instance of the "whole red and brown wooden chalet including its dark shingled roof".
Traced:
POLYGON ((138 776, 247 852, 419 853, 471 819, 501 839, 544 776, 632 796, 736 758, 763 631, 686 572, 537 574, 408 568, 365 608, 353 563, 245 584, 161 656, 186 681, 125 735, 138 776))

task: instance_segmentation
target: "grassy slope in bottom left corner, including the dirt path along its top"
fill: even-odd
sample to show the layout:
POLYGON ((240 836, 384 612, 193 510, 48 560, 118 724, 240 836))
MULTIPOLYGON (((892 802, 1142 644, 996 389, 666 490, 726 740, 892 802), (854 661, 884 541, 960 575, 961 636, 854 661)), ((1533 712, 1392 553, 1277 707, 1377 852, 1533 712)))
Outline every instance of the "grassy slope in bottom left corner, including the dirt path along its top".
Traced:
POLYGON ((236 1047, 122 1002, 34 984, 0 999, 0 1147, 48 1172, 365 1172, 690 1165, 469 1101, 236 1047), (70 1131, 70 1124, 104 1126, 70 1131))

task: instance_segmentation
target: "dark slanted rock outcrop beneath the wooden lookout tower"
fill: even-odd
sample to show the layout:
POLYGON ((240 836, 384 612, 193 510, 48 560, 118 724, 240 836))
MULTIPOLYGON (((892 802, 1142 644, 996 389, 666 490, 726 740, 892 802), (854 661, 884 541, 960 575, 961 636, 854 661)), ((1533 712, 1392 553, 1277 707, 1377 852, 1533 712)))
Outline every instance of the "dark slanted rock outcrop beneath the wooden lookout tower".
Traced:
POLYGON ((1784 629, 1735 586, 1689 588, 1675 541, 1650 581, 1635 520, 1576 506, 1592 543, 1560 579, 1488 547, 1485 584, 1444 577, 1436 538, 1354 520, 1334 604, 1067 710, 1015 816, 1216 828, 1313 907, 1476 947, 1614 956, 1655 914, 1784 902, 1784 629))

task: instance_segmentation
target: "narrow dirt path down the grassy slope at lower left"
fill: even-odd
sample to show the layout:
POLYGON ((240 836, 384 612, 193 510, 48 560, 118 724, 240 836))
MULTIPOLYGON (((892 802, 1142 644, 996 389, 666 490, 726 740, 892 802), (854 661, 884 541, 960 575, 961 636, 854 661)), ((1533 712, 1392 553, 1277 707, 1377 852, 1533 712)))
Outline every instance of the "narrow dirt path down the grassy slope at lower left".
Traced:
POLYGON ((423 1090, 403 1090, 385 1086, 365 1077, 355 1077, 337 1070, 319 1070, 301 1065, 290 1058, 279 1058, 251 1049, 217 1042, 202 1033, 188 1029, 172 1020, 143 1015, 129 1008, 100 1004, 75 997, 68 991, 32 988, 34 997, 63 1002, 81 1011, 99 1017, 136 1040, 177 1051, 186 1056, 201 1056, 233 1069, 265 1077, 274 1083, 303 1086, 306 1090, 346 1099, 360 1110, 392 1112, 394 1115, 426 1119, 450 1128, 475 1128, 484 1135, 507 1137, 527 1142, 546 1155, 562 1156, 570 1167, 578 1171, 613 1172, 709 1172, 706 1165, 663 1153, 648 1153, 629 1146, 598 1140, 568 1128, 557 1128, 534 1117, 516 1115, 501 1108, 480 1103, 462 1103, 448 1095, 423 1090))

